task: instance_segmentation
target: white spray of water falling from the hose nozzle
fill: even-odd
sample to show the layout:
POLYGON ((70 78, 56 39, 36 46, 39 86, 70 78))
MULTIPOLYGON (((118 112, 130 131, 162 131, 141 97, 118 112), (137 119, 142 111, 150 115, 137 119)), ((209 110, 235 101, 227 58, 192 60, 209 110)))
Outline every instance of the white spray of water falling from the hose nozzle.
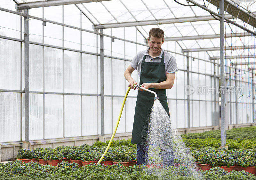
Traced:
POLYGON ((152 107, 146 147, 148 148, 149 174, 159 175, 160 173, 159 176, 163 179, 169 179, 170 176, 164 176, 167 170, 170 172, 170 169, 178 168, 180 176, 194 176, 196 179, 202 179, 195 159, 178 131, 172 128, 170 117, 159 100, 155 100, 152 107), (176 168, 171 168, 172 166, 176 168))

